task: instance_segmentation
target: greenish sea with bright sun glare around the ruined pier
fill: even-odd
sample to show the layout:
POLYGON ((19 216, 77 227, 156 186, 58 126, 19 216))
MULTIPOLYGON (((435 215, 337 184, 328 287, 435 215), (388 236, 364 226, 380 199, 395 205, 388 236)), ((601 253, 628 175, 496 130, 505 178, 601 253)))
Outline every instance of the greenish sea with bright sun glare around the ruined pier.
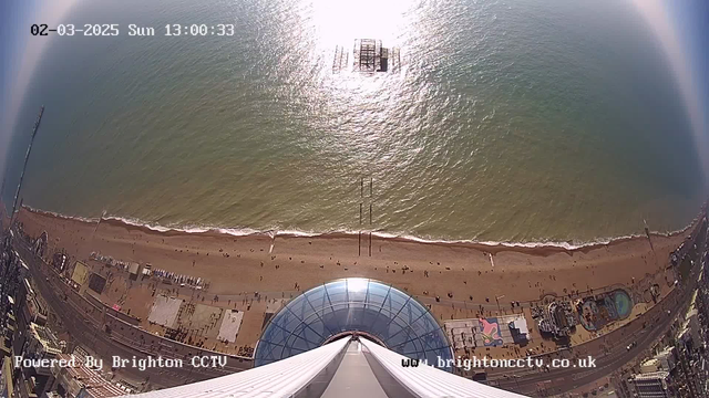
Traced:
POLYGON ((122 32, 51 39, 7 181, 44 104, 34 208, 325 232, 359 229, 363 202, 363 229, 587 242, 679 229, 702 201, 668 64, 621 0, 84 1, 65 22, 122 32), (332 74, 356 38, 400 46, 401 73, 332 74))

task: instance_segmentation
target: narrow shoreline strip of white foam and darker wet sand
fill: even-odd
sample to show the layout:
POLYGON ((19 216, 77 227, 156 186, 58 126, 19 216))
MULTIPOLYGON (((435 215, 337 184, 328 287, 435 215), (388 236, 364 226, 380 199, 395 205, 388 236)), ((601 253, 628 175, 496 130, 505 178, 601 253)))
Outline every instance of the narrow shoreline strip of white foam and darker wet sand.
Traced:
MULTIPOLYGON (((148 234, 158 233, 164 237, 195 235, 195 237, 217 237, 217 238, 259 237, 259 238, 268 238, 268 239, 275 239, 276 237, 278 238, 352 239, 358 237, 358 234, 360 233, 360 231, 349 231, 349 230, 333 230, 333 231, 325 231, 325 232, 307 232, 307 231, 298 231, 298 230, 260 231, 260 230, 248 229, 248 228, 232 229, 232 228, 219 228, 219 227, 192 227, 192 228, 183 229, 183 228, 151 224, 137 219, 123 218, 117 216, 105 216, 100 218, 66 216, 66 214, 58 213, 50 210, 35 209, 27 205, 22 206, 22 210, 29 211, 30 213, 51 217, 60 220, 79 221, 79 222, 84 222, 89 224, 100 222, 101 224, 110 224, 113 227, 124 228, 127 231, 134 230, 134 231, 140 231, 148 234)), ((700 216, 701 216, 701 210, 690 221, 690 223, 684 227, 682 229, 670 231, 670 232, 650 231, 650 237, 672 238, 672 237, 687 233, 687 231, 691 230, 697 224, 697 222, 700 220, 700 216)), ((369 234, 369 231, 361 231, 361 233, 362 233, 362 241, 366 241, 367 235, 369 234)), ((431 245, 450 247, 450 248, 473 249, 473 250, 487 252, 493 255, 503 251, 512 251, 521 254, 531 254, 531 255, 552 255, 555 253, 572 253, 576 251, 588 252, 594 249, 647 239, 646 234, 638 233, 638 234, 613 237, 613 238, 597 238, 594 241, 578 242, 578 243, 573 243, 573 241, 497 242, 497 241, 475 241, 475 240, 443 240, 443 239, 434 240, 434 239, 425 239, 425 238, 420 238, 420 237, 409 235, 409 234, 397 234, 397 233, 386 232, 386 231, 371 231, 371 234, 372 237, 376 237, 377 240, 401 242, 401 243, 420 243, 420 244, 431 244, 431 245)))

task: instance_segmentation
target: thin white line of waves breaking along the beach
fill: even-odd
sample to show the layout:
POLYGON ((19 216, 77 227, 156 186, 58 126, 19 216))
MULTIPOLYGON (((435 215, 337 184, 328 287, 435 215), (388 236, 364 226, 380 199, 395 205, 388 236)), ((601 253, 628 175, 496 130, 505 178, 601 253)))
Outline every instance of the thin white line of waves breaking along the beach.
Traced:
MULTIPOLYGON (((256 230, 251 228, 220 228, 220 227, 202 227, 202 226, 186 226, 186 227, 165 227, 155 223, 144 222, 134 218, 126 217, 117 217, 117 216, 105 216, 101 218, 86 218, 86 217, 78 217, 78 216, 66 216, 61 214, 53 211, 34 209, 29 206, 23 206, 25 210, 29 210, 34 213, 51 216, 60 219, 66 220, 75 220, 81 222, 109 222, 117 226, 124 226, 126 228, 136 228, 153 232, 161 233, 219 233, 227 234, 233 237, 248 237, 248 235, 268 235, 270 238, 275 237, 296 237, 296 238, 316 238, 316 237, 357 237, 360 231, 356 230, 332 230, 325 232, 312 232, 312 231, 300 231, 300 230, 256 230)), ((689 230, 700 218, 701 213, 698 214, 692 221, 686 226, 685 228, 670 232, 660 232, 660 231, 650 231, 654 235, 662 235, 670 237, 675 234, 685 233, 689 230)), ((361 231, 363 234, 368 234, 369 232, 361 231)), ((415 237, 407 233, 394 233, 387 231, 372 231, 373 237, 392 240, 392 241, 409 241, 409 242, 418 242, 418 243, 429 243, 429 244, 470 244, 477 245, 482 248, 490 248, 490 250, 494 249, 556 249, 556 250, 583 250, 583 249, 593 249, 596 247, 608 245, 614 243, 626 242, 634 239, 645 238, 645 234, 629 234, 623 237, 614 237, 614 238, 598 238, 594 241, 588 242, 555 242, 555 241, 545 241, 545 242, 496 242, 496 241, 475 241, 475 240, 444 240, 444 239, 427 239, 421 237, 415 237)))

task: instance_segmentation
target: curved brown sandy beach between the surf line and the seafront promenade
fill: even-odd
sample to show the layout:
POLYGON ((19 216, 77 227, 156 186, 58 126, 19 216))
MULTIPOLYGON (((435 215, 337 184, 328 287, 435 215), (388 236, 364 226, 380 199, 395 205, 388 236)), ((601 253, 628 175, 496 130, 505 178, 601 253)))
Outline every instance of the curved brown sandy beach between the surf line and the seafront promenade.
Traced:
POLYGON ((63 248, 75 259, 91 252, 116 260, 198 276, 214 294, 307 290, 345 276, 392 283, 415 295, 480 303, 535 301, 609 285, 631 285, 662 272, 686 233, 623 239, 577 250, 506 248, 474 243, 422 243, 401 239, 330 234, 234 237, 217 232, 158 232, 116 220, 85 222, 29 211, 19 221, 31 235, 47 231, 50 252, 63 248), (273 250, 271 250, 273 244, 273 250))

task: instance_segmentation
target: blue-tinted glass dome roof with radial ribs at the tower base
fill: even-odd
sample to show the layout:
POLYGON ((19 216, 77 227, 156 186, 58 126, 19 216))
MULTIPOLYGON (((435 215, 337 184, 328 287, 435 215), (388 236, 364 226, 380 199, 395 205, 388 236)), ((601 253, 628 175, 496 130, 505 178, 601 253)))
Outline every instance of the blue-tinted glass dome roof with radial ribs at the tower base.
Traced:
POLYGON ((452 358, 445 333, 415 298, 381 282, 349 277, 288 302, 266 326, 255 366, 317 348, 347 332, 363 332, 387 348, 430 365, 435 366, 439 357, 452 358))

